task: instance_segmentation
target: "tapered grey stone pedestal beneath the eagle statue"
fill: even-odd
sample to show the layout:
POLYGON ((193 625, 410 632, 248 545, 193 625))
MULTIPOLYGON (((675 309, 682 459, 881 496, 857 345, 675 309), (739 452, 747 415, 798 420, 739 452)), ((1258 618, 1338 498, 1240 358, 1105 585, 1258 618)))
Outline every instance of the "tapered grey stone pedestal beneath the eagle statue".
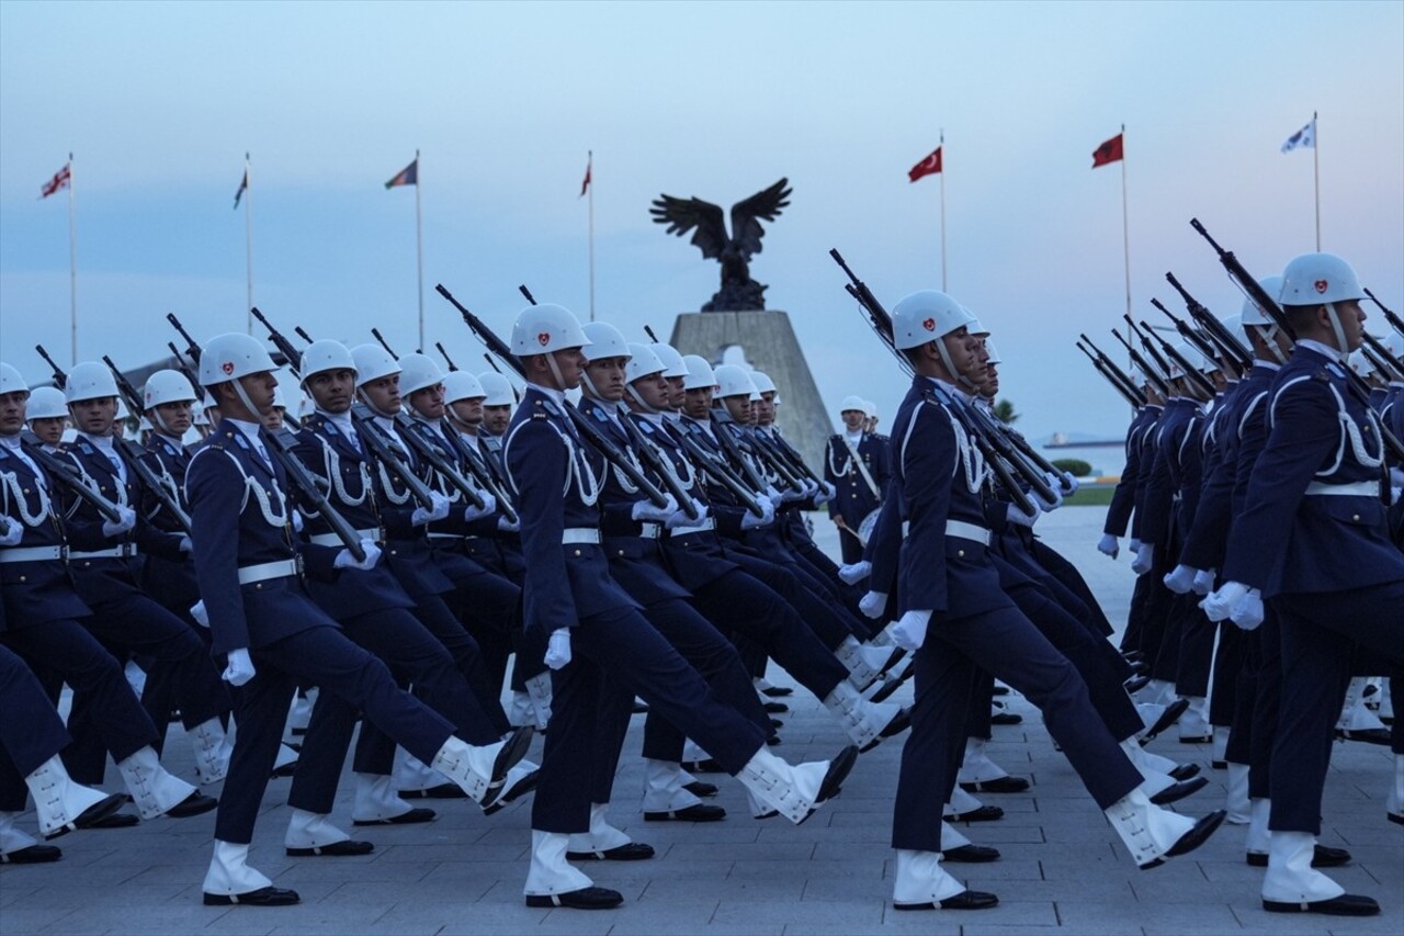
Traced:
POLYGON ((772 311, 684 312, 673 323, 668 343, 681 354, 698 354, 713 365, 722 363, 726 349, 740 346, 746 360, 775 381, 781 398, 775 423, 804 462, 823 476, 824 444, 834 434, 834 427, 789 315, 772 311))

